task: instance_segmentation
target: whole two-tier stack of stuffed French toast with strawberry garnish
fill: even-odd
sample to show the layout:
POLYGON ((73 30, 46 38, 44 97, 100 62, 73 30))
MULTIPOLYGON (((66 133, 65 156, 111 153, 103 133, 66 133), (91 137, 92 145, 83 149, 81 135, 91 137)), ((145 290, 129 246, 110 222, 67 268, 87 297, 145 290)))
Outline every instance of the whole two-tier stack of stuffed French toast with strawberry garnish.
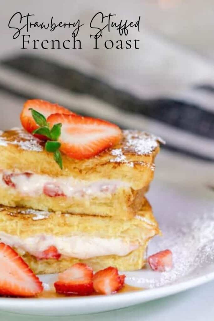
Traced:
POLYGON ((160 139, 43 100, 0 133, 0 239, 34 273, 141 269, 160 234, 145 198, 160 139))

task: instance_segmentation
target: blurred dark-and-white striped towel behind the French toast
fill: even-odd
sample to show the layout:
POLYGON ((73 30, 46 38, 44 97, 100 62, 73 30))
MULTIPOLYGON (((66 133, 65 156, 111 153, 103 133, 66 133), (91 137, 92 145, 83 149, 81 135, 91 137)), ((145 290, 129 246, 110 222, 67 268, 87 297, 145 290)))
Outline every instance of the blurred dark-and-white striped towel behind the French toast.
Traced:
MULTIPOLYGON (((164 148, 170 151, 213 162, 213 85, 193 83, 180 95, 147 97, 93 76, 90 68, 93 66, 84 66, 83 71, 44 56, 12 56, 1 62, 0 91, 13 101, 41 98, 82 115, 105 118, 122 128, 149 131, 166 140, 164 148)), ((5 108, 1 124, 5 127, 9 111, 1 106, 5 108)))

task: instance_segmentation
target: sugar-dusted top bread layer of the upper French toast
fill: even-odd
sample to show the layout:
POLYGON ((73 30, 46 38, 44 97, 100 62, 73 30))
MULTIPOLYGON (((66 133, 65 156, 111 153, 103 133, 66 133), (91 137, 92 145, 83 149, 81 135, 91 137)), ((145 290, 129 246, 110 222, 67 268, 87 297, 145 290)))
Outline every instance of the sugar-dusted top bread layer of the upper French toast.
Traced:
POLYGON ((0 169, 18 169, 52 177, 73 176, 88 181, 120 179, 133 189, 149 185, 154 159, 159 152, 158 138, 139 131, 124 131, 122 141, 96 157, 74 160, 63 155, 64 169, 44 150, 44 143, 23 130, 0 135, 0 169))

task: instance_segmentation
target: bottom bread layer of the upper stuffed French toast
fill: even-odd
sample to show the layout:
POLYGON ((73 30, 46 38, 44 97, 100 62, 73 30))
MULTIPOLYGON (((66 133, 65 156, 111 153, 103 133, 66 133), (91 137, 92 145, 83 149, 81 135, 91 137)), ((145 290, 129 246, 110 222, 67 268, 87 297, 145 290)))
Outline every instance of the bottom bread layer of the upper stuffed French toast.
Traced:
POLYGON ((113 195, 99 197, 49 197, 45 194, 31 197, 22 195, 13 187, 0 185, 0 204, 11 207, 26 207, 35 210, 62 213, 114 216, 131 219, 141 208, 148 187, 141 190, 119 188, 113 195))

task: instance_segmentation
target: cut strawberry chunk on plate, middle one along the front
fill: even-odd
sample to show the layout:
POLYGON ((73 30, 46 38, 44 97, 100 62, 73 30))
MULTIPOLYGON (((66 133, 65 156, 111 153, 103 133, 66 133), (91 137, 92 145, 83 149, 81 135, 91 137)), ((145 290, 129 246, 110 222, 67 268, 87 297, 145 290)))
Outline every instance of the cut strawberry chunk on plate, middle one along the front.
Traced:
POLYGON ((57 293, 90 295, 93 292, 93 271, 84 263, 76 263, 63 273, 59 273, 54 283, 57 293))

